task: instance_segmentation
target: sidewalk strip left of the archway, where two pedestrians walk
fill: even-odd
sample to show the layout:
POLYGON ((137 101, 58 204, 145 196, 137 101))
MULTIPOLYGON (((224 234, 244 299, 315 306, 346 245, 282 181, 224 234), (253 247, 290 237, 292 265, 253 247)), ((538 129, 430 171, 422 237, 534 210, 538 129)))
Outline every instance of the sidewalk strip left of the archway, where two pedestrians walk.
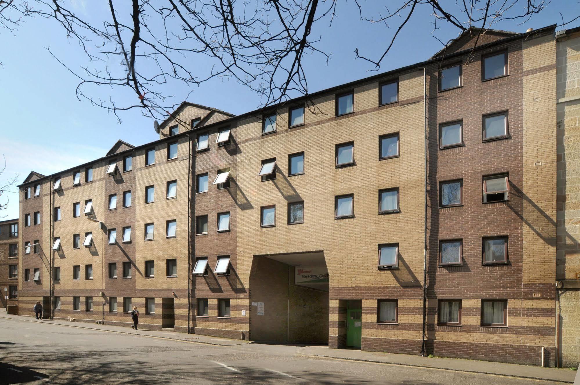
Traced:
POLYGON ((202 336, 198 334, 176 333, 171 332, 169 330, 146 330, 146 329, 133 330, 131 328, 126 328, 125 326, 99 325, 92 324, 89 322, 67 322, 56 319, 42 319, 42 321, 39 321, 34 317, 28 317, 26 315, 10 315, 6 314, 5 312, 0 313, 0 318, 16 319, 18 321, 25 322, 42 322, 43 324, 73 326, 74 328, 103 330, 106 332, 134 334, 139 336, 158 337, 178 341, 197 342, 219 346, 234 346, 252 343, 251 341, 202 336))

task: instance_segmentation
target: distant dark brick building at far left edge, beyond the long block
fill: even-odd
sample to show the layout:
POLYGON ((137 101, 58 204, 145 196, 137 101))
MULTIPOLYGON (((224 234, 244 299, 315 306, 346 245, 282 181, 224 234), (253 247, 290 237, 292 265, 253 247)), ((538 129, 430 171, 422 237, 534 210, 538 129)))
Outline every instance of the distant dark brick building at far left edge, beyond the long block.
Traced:
POLYGON ((1 307, 18 314, 18 219, 0 221, 1 307))

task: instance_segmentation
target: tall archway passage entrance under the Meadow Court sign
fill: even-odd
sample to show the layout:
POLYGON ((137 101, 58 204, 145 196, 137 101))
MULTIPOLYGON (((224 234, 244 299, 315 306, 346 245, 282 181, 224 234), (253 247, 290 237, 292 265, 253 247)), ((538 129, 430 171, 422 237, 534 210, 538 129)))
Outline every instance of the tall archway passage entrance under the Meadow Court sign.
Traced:
POLYGON ((250 340, 328 344, 328 288, 323 252, 254 256, 250 340))

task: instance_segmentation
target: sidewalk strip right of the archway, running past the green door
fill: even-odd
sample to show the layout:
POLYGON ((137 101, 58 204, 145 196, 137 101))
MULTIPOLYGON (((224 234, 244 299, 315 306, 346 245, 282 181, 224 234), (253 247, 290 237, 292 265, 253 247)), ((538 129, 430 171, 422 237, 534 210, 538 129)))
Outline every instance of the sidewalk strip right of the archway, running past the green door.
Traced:
POLYGON ((370 351, 351 349, 331 349, 326 346, 306 346, 300 348, 298 353, 304 355, 314 355, 317 357, 378 362, 381 364, 418 366, 422 368, 448 369, 450 371, 485 373, 564 383, 574 383, 574 377, 577 374, 576 371, 571 371, 570 369, 541 368, 539 366, 474 361, 472 359, 428 358, 410 354, 375 353, 370 351))

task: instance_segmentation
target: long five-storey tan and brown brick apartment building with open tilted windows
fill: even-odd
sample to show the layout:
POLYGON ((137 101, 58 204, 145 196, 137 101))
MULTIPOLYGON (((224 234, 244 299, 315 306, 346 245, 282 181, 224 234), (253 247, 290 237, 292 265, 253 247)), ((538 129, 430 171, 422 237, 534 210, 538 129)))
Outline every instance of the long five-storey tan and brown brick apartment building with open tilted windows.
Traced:
POLYGON ((20 314, 554 365, 554 26, 477 32, 267 110, 183 103, 153 143, 31 172, 20 314))

